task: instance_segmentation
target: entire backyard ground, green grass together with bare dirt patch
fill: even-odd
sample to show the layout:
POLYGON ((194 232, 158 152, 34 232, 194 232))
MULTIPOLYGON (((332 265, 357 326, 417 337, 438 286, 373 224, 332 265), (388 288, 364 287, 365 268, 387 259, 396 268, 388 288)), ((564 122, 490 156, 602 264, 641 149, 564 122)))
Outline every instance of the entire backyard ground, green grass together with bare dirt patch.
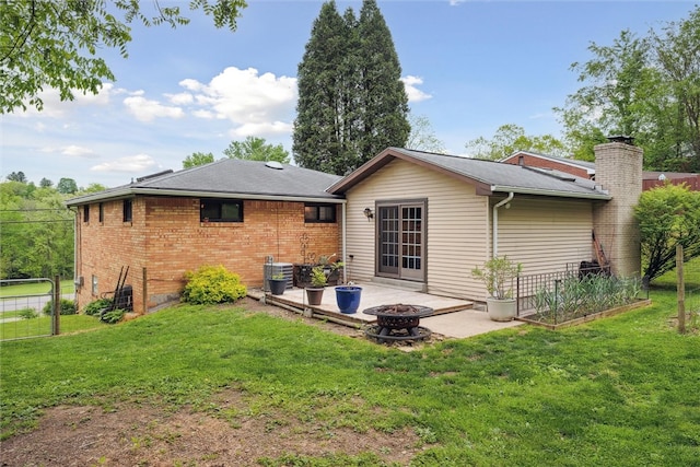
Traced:
POLYGON ((700 465, 700 337, 661 283, 411 352, 250 301, 7 342, 3 465, 700 465))

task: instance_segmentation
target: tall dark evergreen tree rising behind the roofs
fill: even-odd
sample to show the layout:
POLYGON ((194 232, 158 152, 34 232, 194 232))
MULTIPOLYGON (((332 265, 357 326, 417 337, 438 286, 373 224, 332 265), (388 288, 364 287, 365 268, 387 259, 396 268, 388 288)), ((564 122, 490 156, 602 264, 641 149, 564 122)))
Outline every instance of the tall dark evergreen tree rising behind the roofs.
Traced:
POLYGON ((386 147, 405 145, 408 97, 390 33, 374 0, 360 21, 323 4, 299 65, 294 159, 345 175, 386 147))

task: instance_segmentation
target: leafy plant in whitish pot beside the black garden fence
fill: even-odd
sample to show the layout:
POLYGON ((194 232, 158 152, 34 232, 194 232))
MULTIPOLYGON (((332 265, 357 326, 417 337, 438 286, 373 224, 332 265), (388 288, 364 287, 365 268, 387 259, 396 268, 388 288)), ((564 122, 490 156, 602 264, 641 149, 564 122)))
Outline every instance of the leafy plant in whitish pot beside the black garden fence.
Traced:
POLYGON ((494 322, 510 322, 517 313, 513 299, 513 279, 523 270, 523 265, 508 259, 508 256, 494 257, 481 268, 471 270, 471 276, 486 285, 489 297, 486 299, 487 312, 494 322))

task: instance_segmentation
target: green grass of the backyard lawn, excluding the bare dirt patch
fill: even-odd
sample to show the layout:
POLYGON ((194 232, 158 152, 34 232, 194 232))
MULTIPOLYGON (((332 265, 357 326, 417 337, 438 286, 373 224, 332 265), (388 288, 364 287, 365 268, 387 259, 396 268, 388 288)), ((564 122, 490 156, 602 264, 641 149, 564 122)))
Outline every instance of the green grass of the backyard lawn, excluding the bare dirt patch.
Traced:
POLYGON ((31 429, 59 404, 212 410, 212 395, 235 387, 253 413, 359 432, 408 427, 424 443, 415 466, 698 466, 700 337, 673 328, 674 291, 651 297, 584 326, 521 326, 408 353, 235 306, 179 305, 3 343, 2 430, 31 429))

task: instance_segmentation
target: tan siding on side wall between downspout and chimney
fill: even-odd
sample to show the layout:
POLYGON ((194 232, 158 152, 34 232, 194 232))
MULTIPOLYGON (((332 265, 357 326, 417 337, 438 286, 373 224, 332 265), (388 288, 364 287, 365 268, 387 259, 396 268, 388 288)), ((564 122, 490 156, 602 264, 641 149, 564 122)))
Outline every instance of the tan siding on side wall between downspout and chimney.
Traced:
POLYGON ((590 201, 524 198, 499 209, 499 256, 523 264, 523 273, 565 269, 592 259, 593 208, 590 201))

